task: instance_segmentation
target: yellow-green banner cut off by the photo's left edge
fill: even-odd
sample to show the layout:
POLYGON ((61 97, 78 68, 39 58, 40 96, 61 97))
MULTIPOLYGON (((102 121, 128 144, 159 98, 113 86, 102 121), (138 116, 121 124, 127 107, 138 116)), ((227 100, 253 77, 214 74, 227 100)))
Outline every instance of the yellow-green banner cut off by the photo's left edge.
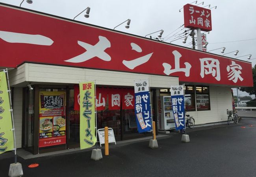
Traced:
POLYGON ((6 73, 0 72, 0 154, 13 150, 13 128, 6 73))

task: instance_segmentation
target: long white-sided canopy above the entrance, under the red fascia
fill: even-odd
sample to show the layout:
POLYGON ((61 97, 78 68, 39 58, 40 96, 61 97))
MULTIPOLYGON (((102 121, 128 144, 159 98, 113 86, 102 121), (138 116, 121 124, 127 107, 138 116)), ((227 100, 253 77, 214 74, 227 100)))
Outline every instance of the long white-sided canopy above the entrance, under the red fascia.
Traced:
MULTIPOLYGON (((94 81, 97 85, 134 86, 135 79, 149 79, 150 87, 169 88, 178 84, 178 77, 137 74, 108 70, 94 70, 67 66, 24 63, 12 71, 11 85, 26 81, 31 84, 54 83, 78 84, 80 81, 94 81), (25 70, 25 71, 24 71, 25 70), (22 79, 20 79, 22 78, 22 79), (24 79, 25 78, 25 79, 24 79), (33 83, 34 82, 34 83, 33 83)), ((26 87, 25 84, 23 84, 26 87)))

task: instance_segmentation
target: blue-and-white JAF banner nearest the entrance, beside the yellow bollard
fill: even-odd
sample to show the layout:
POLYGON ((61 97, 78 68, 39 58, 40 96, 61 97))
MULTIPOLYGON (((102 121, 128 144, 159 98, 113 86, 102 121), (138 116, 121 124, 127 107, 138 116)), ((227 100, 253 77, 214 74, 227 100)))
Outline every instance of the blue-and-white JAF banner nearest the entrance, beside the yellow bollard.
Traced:
POLYGON ((150 131, 152 127, 151 123, 151 106, 150 106, 150 94, 149 94, 149 81, 135 80, 134 81, 135 92, 135 115, 138 126, 138 132, 143 133, 150 131))

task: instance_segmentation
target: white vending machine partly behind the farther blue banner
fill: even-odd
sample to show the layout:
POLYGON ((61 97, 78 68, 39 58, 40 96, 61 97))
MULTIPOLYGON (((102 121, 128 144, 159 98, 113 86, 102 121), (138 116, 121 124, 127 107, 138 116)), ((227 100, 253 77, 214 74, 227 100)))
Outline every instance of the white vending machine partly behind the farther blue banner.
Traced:
POLYGON ((161 114, 159 119, 159 130, 175 128, 171 96, 160 96, 161 114))

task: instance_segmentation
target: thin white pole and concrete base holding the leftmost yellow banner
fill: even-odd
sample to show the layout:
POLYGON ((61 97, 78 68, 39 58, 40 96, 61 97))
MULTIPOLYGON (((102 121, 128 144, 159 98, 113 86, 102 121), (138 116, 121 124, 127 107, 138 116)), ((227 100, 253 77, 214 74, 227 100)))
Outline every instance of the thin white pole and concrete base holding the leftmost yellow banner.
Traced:
POLYGON ((9 177, 13 177, 13 176, 23 176, 23 171, 22 171, 22 165, 17 162, 17 151, 16 151, 16 136, 15 136, 15 128, 14 128, 14 121, 13 121, 13 105, 11 103, 11 89, 10 89, 10 83, 9 83, 9 76, 8 76, 8 69, 6 68, 6 70, 4 70, 4 72, 6 72, 6 76, 7 76, 7 83, 8 83, 8 90, 7 92, 9 92, 9 100, 10 100, 10 107, 11 109, 9 111, 11 111, 11 120, 13 123, 13 140, 14 140, 14 161, 15 163, 10 164, 10 168, 9 168, 9 177))

